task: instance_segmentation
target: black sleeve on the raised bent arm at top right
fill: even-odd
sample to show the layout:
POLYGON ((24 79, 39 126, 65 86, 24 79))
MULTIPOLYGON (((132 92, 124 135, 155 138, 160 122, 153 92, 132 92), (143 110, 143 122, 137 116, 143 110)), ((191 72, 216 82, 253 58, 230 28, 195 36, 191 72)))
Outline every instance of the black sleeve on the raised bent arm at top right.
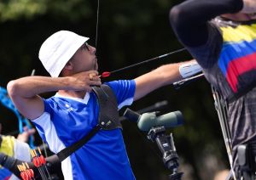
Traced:
POLYGON ((170 22, 180 42, 190 48, 208 41, 208 21, 241 10, 242 0, 187 0, 170 11, 170 22))

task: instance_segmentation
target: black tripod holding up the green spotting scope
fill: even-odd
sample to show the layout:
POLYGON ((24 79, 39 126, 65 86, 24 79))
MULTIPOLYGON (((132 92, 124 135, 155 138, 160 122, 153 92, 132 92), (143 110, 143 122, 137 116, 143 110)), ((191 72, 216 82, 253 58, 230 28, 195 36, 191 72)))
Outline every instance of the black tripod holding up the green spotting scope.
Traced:
POLYGON ((169 179, 181 180, 183 172, 177 172, 178 156, 174 146, 172 133, 169 136, 166 136, 165 133, 165 127, 152 127, 148 132, 148 139, 157 143, 163 155, 163 162, 165 166, 172 172, 172 174, 169 175, 169 179))

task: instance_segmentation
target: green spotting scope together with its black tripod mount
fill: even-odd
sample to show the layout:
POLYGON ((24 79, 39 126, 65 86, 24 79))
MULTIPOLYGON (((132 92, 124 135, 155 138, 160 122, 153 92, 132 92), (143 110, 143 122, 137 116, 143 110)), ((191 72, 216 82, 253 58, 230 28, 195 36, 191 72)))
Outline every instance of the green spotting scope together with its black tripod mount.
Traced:
POLYGON ((133 110, 126 109, 124 116, 131 121, 137 122, 142 131, 148 132, 148 139, 156 142, 162 155, 165 166, 171 170, 170 180, 180 180, 183 172, 177 172, 178 156, 174 146, 172 133, 166 136, 166 127, 177 127, 183 124, 183 115, 180 111, 157 116, 156 112, 143 113, 142 115, 133 110))

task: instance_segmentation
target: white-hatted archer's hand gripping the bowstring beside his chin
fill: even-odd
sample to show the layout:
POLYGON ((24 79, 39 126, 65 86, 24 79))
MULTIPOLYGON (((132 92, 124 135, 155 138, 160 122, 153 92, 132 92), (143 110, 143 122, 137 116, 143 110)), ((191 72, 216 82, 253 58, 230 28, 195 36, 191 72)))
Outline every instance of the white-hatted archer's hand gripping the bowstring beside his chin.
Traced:
POLYGON ((86 91, 91 92, 91 87, 101 86, 101 78, 98 76, 96 70, 90 70, 85 72, 80 72, 71 76, 70 85, 73 88, 73 91, 86 91))

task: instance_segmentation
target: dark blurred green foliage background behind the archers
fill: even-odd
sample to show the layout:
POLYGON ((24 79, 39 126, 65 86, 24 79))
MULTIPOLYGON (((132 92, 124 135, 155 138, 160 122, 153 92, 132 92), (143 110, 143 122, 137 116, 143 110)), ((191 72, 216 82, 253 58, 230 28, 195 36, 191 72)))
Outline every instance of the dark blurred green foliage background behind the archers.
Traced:
MULTIPOLYGON (((168 21, 170 8, 181 1, 173 0, 101 0, 97 55, 99 71, 116 70, 183 48, 177 42, 168 21)), ((38 59, 44 40, 55 31, 74 31, 90 37, 95 45, 96 0, 2 0, 0 1, 0 86, 10 80, 29 76, 49 76, 38 59)), ((187 52, 114 74, 103 81, 131 79, 160 65, 191 59, 187 52)), ((44 98, 52 93, 43 94, 44 98)), ((168 100, 162 113, 181 110, 184 125, 168 129, 180 157, 183 179, 213 179, 229 167, 224 141, 213 106, 211 87, 204 79, 175 90, 162 87, 131 106, 141 110, 168 100)), ((122 112, 123 110, 121 110, 122 112)), ((0 105, 3 134, 18 129, 15 115, 0 105)), ((131 166, 138 180, 167 179, 170 174, 162 163, 159 149, 140 132, 136 124, 125 121, 124 138, 131 166)), ((41 141, 37 138, 37 144, 41 141)))

